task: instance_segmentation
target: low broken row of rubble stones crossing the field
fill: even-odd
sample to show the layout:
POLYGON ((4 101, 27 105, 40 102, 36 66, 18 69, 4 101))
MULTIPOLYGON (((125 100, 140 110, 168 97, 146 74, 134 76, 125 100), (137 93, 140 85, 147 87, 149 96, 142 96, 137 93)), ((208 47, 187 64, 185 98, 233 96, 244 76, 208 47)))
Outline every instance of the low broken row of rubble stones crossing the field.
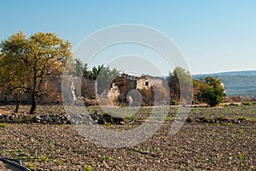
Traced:
MULTIPOLYGON (((131 123, 134 120, 125 119, 119 117, 112 117, 107 113, 103 115, 97 111, 91 114, 72 114, 66 115, 61 114, 40 114, 40 115, 29 115, 29 114, 0 114, 0 123, 49 123, 49 124, 126 124, 131 123)), ((229 117, 187 117, 186 120, 183 118, 176 118, 172 122, 183 122, 183 123, 244 123, 246 121, 239 120, 236 118, 229 117)))

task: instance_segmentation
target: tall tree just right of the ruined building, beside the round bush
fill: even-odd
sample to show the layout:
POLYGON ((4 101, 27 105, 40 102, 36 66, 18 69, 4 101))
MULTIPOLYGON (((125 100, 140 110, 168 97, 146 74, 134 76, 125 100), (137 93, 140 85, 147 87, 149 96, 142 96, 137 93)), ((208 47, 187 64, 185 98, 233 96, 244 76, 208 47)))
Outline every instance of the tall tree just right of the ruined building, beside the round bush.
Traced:
POLYGON ((169 73, 167 81, 170 88, 172 104, 178 104, 181 100, 181 93, 183 93, 183 100, 189 101, 191 99, 193 92, 192 80, 189 71, 185 71, 182 67, 176 67, 169 73), (184 92, 184 90, 186 91, 184 92))

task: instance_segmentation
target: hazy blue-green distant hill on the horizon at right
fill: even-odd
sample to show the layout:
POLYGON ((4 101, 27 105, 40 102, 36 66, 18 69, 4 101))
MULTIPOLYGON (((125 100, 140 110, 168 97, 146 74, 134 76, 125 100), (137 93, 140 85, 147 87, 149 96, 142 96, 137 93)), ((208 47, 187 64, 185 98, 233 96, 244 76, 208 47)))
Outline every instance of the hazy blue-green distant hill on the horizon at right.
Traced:
POLYGON ((208 76, 219 78, 224 83, 228 96, 249 95, 256 98, 256 71, 229 71, 193 75, 195 79, 208 76))

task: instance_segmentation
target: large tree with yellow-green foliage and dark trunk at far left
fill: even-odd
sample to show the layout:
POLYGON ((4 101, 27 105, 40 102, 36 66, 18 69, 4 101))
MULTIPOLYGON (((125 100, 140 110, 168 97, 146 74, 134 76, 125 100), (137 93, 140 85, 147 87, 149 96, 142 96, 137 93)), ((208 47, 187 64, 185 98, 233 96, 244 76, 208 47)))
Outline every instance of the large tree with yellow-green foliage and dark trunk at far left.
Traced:
POLYGON ((71 44, 50 32, 26 37, 20 31, 4 40, 0 48, 6 70, 11 68, 9 75, 17 80, 11 91, 20 88, 32 97, 30 114, 36 111, 38 98, 50 91, 45 88, 47 79, 61 76, 66 61, 73 58, 71 44))

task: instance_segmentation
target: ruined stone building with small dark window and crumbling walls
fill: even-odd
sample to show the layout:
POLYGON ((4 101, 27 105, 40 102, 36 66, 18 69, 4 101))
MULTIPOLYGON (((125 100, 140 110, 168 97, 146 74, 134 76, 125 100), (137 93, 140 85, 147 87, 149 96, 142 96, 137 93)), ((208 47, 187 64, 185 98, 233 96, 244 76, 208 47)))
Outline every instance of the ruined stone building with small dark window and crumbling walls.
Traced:
POLYGON ((108 97, 123 105, 128 105, 131 102, 136 103, 140 98, 143 100, 142 105, 164 104, 168 103, 169 90, 167 87, 164 78, 148 75, 135 77, 122 74, 119 78, 113 80, 108 91, 108 97), (137 92, 134 90, 137 90, 137 92), (141 94, 141 97, 138 94, 141 94), (136 98, 137 100, 135 100, 136 98))

